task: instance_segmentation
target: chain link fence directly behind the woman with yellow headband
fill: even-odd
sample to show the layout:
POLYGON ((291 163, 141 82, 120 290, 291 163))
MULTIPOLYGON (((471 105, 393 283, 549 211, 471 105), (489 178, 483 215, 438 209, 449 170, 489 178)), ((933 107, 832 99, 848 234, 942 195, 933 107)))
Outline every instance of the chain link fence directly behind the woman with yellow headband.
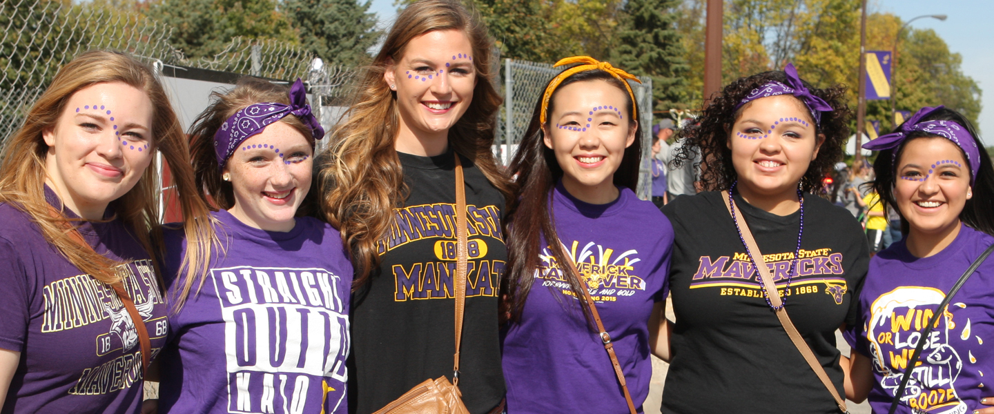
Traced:
MULTIPOLYGON (((510 163, 517 149, 517 144, 524 138, 525 130, 535 112, 535 104, 546 90, 549 80, 563 69, 553 68, 549 64, 528 61, 504 60, 501 71, 504 82, 504 104, 501 105, 497 136, 498 160, 504 165, 510 163)), ((648 200, 652 191, 652 175, 650 157, 652 151, 652 79, 638 76, 642 83, 628 81, 635 94, 638 107, 638 121, 642 128, 642 162, 639 167, 638 188, 636 194, 642 200, 648 200)))

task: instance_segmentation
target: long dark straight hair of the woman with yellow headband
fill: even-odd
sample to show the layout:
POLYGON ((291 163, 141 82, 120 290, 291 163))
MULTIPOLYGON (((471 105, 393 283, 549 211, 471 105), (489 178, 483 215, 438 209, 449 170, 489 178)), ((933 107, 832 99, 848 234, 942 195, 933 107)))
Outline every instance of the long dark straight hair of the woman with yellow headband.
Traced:
MULTIPOLYGON (((596 69, 580 71, 567 77, 560 83, 560 86, 553 92, 549 99, 547 113, 554 111, 556 94, 570 83, 602 80, 612 86, 621 89, 625 96, 625 110, 628 113, 628 122, 635 119, 635 104, 628 95, 621 80, 611 76, 610 73, 596 69)), ((550 79, 550 82, 552 79, 550 79)), ((570 290, 578 298, 582 298, 581 289, 586 289, 580 280, 580 275, 572 271, 569 266, 565 266, 568 260, 573 260, 567 254, 563 243, 560 242, 556 232, 556 217, 550 208, 552 205, 553 188, 563 178, 563 168, 556 160, 556 153, 545 144, 545 131, 543 126, 549 129, 551 120, 542 125, 540 114, 542 111, 542 98, 539 98, 535 105, 535 112, 532 120, 525 131, 525 138, 518 147, 518 152, 511 161, 510 173, 515 175, 520 185, 517 205, 508 210, 505 216, 507 223, 507 250, 508 267, 507 277, 501 282, 502 296, 504 296, 504 306, 510 313, 510 320, 516 321, 521 317, 521 312, 525 309, 525 301, 528 293, 532 289, 535 280, 535 271, 539 268, 539 252, 542 250, 540 239, 545 238, 546 243, 552 249, 553 258, 556 263, 560 263, 559 270, 566 275, 570 283, 570 290)), ((614 185, 635 191, 638 184, 638 168, 642 159, 642 124, 638 123, 635 129, 635 141, 625 148, 621 158, 621 165, 614 172, 614 185)), ((589 310, 585 306, 580 306, 587 322, 590 321, 589 310)))

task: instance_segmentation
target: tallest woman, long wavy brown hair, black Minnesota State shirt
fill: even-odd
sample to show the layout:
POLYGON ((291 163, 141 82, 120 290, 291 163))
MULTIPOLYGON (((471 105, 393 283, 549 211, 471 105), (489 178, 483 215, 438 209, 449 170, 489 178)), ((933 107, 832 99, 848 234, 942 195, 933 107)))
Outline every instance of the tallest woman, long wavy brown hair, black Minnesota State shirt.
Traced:
POLYGON ((507 257, 502 210, 513 189, 490 150, 501 102, 490 83, 492 46, 479 17, 457 1, 408 6, 318 159, 325 217, 356 269, 356 412, 453 376, 456 161, 469 234, 458 386, 472 413, 504 396, 497 285, 507 257))

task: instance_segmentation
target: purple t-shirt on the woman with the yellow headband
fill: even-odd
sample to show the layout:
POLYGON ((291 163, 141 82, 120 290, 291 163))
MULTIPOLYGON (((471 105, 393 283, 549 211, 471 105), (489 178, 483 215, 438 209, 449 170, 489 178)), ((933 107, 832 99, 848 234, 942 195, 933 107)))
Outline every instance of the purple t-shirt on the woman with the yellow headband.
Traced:
MULTIPOLYGON (((573 255, 611 336, 636 407, 649 393, 648 322, 666 299, 673 245, 669 219, 628 189, 607 205, 590 205, 563 189, 554 191, 556 231, 573 255)), ((545 240, 543 246, 547 246, 545 240)), ((624 395, 610 358, 587 328, 580 301, 569 292, 559 266, 543 257, 521 320, 504 339, 508 412, 623 413, 624 395)))

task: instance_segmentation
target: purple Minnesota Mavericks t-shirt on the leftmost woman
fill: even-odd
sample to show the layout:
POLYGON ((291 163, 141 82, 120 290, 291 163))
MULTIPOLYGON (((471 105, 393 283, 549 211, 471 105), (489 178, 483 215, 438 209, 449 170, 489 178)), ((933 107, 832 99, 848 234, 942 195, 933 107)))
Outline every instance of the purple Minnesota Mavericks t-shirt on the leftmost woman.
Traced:
MULTIPOLYGON (((48 188, 46 197, 61 205, 48 188)), ((148 252, 120 220, 80 224, 97 252, 129 261, 116 271, 154 356, 165 344, 166 306, 148 252)), ((141 345, 127 310, 110 286, 83 274, 26 213, 6 204, 0 205, 0 286, 0 347, 21 352, 0 412, 138 412, 141 345)))

